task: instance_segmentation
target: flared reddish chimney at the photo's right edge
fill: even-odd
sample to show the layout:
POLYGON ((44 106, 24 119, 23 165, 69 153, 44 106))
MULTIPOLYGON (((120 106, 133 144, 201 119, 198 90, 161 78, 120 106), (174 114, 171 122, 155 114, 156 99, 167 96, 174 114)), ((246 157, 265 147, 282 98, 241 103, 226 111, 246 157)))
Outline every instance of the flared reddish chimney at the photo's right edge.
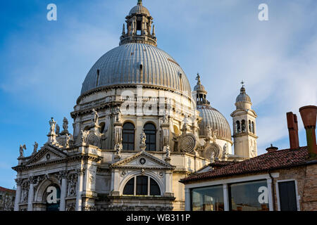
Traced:
POLYGON ((307 105, 299 108, 299 113, 302 116, 304 127, 306 129, 307 149, 309 150, 309 158, 317 158, 317 146, 316 146, 316 115, 317 106, 307 105))

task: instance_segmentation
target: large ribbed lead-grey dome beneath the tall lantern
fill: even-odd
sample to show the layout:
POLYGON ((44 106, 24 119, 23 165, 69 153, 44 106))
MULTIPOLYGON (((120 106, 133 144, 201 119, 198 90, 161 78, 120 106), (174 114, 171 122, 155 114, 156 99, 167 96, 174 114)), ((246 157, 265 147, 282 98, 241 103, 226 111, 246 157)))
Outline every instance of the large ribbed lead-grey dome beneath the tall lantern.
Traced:
POLYGON ((191 96, 185 72, 165 51, 149 44, 123 44, 104 56, 90 69, 81 94, 101 86, 145 85, 171 89, 191 96))

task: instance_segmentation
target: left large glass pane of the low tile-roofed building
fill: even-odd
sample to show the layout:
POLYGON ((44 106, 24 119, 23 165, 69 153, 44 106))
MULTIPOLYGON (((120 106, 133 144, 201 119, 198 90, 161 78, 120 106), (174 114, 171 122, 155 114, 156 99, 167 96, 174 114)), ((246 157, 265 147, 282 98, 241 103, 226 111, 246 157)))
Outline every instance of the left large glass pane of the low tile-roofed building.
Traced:
POLYGON ((191 190, 192 211, 224 211, 223 186, 193 188, 191 190))

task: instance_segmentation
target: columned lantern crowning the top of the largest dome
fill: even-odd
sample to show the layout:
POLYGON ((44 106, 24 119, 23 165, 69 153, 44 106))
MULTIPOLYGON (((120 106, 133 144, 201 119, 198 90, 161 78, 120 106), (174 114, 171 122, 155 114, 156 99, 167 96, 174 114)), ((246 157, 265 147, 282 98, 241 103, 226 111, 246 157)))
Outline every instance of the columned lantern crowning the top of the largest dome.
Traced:
POLYGON ((125 24, 123 24, 119 45, 143 43, 157 46, 154 25, 151 29, 153 18, 147 8, 142 6, 142 0, 137 1, 137 6, 130 10, 129 15, 125 19, 127 30, 125 30, 125 24))

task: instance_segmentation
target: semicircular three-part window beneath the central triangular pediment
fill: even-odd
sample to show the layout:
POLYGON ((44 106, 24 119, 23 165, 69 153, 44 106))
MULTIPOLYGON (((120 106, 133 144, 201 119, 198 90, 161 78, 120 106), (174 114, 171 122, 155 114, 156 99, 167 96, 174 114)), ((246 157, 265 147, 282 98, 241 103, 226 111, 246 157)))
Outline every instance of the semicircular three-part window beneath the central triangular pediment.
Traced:
POLYGON ((123 195, 161 195, 161 190, 153 178, 134 176, 125 184, 123 195))

